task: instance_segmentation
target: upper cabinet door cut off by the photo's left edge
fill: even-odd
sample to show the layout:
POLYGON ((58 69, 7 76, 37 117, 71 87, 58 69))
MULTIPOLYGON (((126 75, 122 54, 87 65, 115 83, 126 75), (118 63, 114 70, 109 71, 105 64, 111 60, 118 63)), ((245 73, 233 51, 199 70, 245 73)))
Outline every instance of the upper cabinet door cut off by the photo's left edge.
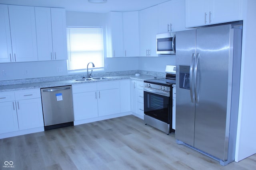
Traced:
POLYGON ((12 62, 8 6, 0 4, 0 63, 12 62))

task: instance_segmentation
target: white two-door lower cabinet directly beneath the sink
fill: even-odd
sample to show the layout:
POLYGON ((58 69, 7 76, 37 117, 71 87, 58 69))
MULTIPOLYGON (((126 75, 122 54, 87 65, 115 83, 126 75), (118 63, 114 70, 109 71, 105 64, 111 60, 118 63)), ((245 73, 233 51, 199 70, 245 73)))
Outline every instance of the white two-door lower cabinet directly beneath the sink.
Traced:
POLYGON ((73 85, 72 91, 75 121, 120 113, 119 81, 73 85))

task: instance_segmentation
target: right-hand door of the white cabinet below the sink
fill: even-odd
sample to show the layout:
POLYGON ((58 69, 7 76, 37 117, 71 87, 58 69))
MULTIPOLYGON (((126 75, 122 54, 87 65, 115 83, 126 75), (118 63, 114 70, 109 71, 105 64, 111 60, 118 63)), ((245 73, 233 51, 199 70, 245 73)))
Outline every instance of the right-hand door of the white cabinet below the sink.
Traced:
POLYGON ((119 89, 98 91, 98 115, 105 116, 120 113, 119 89))

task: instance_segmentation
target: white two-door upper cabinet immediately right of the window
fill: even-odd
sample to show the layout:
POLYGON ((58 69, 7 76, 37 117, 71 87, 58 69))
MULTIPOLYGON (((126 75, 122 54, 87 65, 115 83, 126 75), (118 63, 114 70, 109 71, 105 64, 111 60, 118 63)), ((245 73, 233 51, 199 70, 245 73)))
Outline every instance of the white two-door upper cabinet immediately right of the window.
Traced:
POLYGON ((109 12, 107 21, 108 57, 139 56, 138 12, 109 12))

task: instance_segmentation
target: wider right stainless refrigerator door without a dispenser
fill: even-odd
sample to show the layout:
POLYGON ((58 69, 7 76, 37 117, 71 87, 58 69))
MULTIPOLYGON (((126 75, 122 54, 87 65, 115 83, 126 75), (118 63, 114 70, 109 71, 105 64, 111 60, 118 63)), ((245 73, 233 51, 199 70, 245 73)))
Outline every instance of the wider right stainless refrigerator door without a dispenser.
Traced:
POLYGON ((194 147, 226 160, 230 25, 197 29, 196 47, 194 147))

